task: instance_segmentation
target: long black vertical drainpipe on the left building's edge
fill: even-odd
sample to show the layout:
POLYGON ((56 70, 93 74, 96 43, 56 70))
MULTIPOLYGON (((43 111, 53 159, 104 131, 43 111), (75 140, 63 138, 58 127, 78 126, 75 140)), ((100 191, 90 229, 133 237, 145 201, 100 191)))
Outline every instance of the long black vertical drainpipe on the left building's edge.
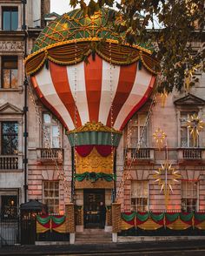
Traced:
MULTIPOLYGON (((26 26, 26 3, 27 0, 22 0, 23 3, 23 26, 22 30, 24 32, 24 58, 27 57, 27 26, 26 26)), ((23 107, 23 113, 24 113, 24 132, 23 132, 23 138, 24 138, 24 157, 23 157, 23 171, 24 171, 24 203, 27 202, 27 191, 28 191, 28 185, 27 185, 27 168, 28 168, 28 158, 27 158, 27 144, 28 144, 28 127, 27 127, 27 112, 28 112, 28 101, 27 101, 27 91, 28 91, 28 80, 24 71, 24 107, 23 107)))

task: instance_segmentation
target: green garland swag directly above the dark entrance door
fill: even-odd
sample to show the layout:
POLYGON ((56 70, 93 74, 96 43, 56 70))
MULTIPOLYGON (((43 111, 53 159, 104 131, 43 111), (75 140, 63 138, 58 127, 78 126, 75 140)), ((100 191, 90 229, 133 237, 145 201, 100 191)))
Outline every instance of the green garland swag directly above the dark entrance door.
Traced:
POLYGON ((116 177, 113 174, 103 173, 103 172, 83 172, 76 173, 75 179, 77 181, 83 181, 84 179, 90 180, 90 182, 96 182, 98 179, 104 179, 108 182, 115 180, 116 177))

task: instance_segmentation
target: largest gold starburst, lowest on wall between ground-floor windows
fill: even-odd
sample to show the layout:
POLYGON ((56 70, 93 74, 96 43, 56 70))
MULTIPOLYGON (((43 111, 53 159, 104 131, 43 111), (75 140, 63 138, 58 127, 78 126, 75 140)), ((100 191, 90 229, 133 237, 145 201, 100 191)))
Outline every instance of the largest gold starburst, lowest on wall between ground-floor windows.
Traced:
POLYGON ((173 185, 175 183, 179 183, 179 179, 181 179, 181 174, 179 171, 175 171, 175 168, 168 162, 165 162, 158 171, 154 171, 155 174, 153 175, 155 179, 155 183, 157 182, 161 185, 160 192, 164 192, 165 195, 169 195, 169 191, 173 192, 173 185))

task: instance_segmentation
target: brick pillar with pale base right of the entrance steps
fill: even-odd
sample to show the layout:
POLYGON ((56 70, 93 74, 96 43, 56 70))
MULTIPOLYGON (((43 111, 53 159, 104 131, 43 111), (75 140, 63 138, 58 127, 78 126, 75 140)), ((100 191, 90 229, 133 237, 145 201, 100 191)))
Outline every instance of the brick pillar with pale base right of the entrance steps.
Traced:
POLYGON ((112 204, 112 241, 117 242, 117 232, 121 231, 121 204, 112 204))

